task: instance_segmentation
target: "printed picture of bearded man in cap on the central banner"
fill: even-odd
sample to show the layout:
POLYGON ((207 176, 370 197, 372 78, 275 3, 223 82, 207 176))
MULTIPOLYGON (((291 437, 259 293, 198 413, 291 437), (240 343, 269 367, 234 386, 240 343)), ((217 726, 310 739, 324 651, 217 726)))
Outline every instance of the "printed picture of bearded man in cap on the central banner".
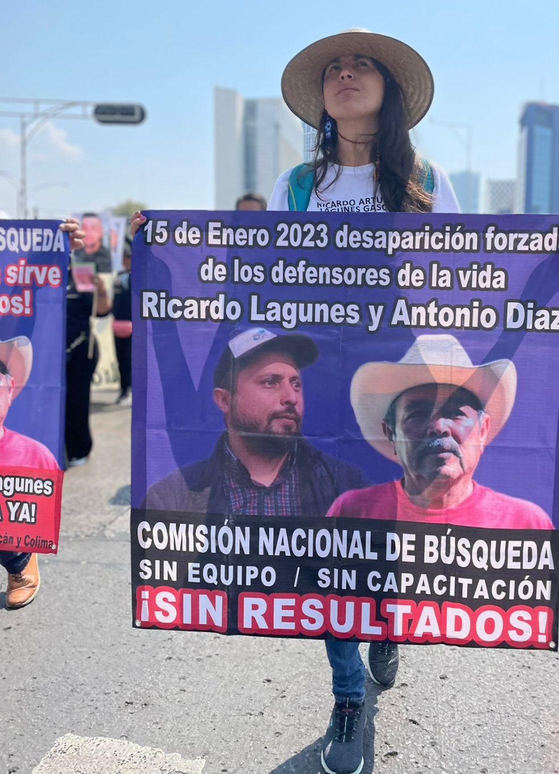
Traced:
POLYGON ((225 433, 211 457, 151 488, 151 509, 227 515, 324 516, 348 489, 368 485, 358 467, 324 454, 301 435, 301 371, 314 341, 251 328, 229 341, 214 369, 214 402, 225 433))

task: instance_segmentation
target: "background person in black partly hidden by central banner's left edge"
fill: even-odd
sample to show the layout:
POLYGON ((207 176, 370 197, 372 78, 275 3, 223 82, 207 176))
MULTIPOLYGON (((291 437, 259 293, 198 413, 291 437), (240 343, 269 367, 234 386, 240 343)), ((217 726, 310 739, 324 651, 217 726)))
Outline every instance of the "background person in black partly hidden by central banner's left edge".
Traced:
POLYGON ((122 271, 118 272, 112 286, 112 313, 115 319, 112 331, 115 336, 115 351, 120 373, 120 395, 116 402, 119 406, 132 403, 132 292, 130 287, 130 267, 132 262, 132 242, 127 237, 122 256, 122 271))

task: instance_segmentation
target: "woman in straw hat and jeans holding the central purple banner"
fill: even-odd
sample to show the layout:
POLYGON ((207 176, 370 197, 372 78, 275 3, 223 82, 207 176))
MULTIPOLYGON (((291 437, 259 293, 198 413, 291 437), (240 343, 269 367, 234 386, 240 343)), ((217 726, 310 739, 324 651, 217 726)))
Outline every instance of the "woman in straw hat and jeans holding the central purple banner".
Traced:
MULTIPOLYGON (((318 40, 290 61, 283 98, 317 129, 314 163, 280 176, 269 210, 458 212, 446 176, 420 159, 409 130, 427 113, 433 77, 420 55, 400 40, 348 32, 318 40)), ((331 774, 363 766, 365 667, 358 643, 326 642, 334 710, 322 749, 331 774)), ((372 680, 392 687, 399 656, 393 642, 367 650, 372 680)))

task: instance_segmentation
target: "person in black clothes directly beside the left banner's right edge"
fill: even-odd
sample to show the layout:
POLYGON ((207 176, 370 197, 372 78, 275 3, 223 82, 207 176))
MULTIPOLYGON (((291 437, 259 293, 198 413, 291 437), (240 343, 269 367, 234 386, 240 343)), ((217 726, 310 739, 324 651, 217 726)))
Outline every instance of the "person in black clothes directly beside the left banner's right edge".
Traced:
POLYGON ((94 293, 80 293, 72 273, 68 274, 66 317, 66 455, 68 467, 84 465, 89 460, 93 441, 89 428, 89 398, 91 379, 99 358, 97 341, 90 347, 91 316, 105 317, 111 311, 111 300, 105 283, 94 277, 97 305, 93 309, 94 293))

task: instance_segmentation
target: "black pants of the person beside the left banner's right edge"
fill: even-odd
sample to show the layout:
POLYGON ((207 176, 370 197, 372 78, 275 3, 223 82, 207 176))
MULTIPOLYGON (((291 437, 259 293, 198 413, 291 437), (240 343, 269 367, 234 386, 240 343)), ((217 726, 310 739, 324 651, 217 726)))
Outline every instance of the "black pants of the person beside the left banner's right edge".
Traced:
POLYGON ((93 442, 89 430, 91 378, 99 358, 95 342, 93 358, 87 357, 89 342, 82 341, 66 355, 66 454, 69 460, 87 457, 93 442))

